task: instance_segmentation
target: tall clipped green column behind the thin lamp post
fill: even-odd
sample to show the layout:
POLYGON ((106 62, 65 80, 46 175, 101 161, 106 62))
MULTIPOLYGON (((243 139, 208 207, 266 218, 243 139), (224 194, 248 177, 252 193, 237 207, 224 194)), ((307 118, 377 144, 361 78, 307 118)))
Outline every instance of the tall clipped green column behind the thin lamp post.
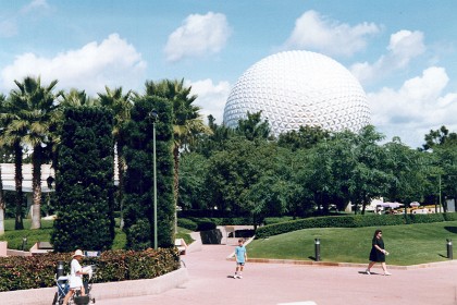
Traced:
POLYGON ((124 230, 127 246, 134 246, 134 243, 140 241, 140 245, 135 245, 136 248, 153 246, 153 136, 149 115, 153 109, 159 113, 156 122, 158 243, 160 247, 174 244, 172 108, 166 99, 144 97, 136 100, 132 109, 124 147, 127 164, 124 230), (139 230, 146 228, 145 223, 149 224, 149 229, 139 230))

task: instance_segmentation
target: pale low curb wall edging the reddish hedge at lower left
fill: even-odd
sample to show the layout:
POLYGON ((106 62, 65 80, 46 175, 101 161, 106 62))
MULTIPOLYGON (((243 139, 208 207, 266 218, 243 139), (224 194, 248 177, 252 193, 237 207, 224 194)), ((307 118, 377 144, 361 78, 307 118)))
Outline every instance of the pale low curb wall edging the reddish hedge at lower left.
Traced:
MULTIPOLYGON (((181 268, 155 279, 97 283, 94 284, 90 295, 96 301, 153 295, 177 288, 187 281, 187 269, 181 268)), ((0 292, 0 300, 2 304, 4 302, 8 305, 49 305, 55 292, 57 288, 7 291, 0 292)))

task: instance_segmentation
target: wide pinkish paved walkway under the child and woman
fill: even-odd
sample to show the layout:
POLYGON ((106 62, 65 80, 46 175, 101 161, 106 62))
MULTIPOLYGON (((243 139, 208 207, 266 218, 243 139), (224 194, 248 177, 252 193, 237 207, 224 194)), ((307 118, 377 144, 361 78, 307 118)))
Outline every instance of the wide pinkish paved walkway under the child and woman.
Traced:
POLYGON ((363 267, 294 266, 287 264, 246 265, 244 278, 233 279, 235 264, 226 260, 236 245, 203 245, 183 256, 189 273, 184 285, 159 295, 123 300, 100 300, 99 305, 166 304, 318 304, 318 305, 456 305, 457 261, 417 269, 392 268, 381 276, 380 266, 365 274, 363 267))

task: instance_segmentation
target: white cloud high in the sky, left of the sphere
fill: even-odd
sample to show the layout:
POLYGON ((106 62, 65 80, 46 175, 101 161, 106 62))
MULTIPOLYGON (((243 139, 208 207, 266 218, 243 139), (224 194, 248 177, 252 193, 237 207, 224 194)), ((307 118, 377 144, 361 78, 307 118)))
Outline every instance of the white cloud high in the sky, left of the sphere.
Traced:
POLYGON ((224 14, 192 14, 169 36, 164 48, 166 60, 217 53, 225 46, 231 33, 224 14))

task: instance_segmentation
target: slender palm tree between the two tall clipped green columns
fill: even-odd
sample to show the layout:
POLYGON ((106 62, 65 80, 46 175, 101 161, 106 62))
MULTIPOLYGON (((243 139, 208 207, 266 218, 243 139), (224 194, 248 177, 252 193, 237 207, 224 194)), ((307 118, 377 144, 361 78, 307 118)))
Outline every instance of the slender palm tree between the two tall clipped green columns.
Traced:
POLYGON ((124 125, 131 119, 132 90, 125 95, 122 93, 122 87, 114 88, 104 87, 106 94, 98 94, 101 106, 104 106, 114 112, 114 127, 113 137, 115 141, 115 154, 118 155, 118 175, 119 175, 119 192, 118 200, 121 205, 121 229, 124 227, 123 205, 124 205, 124 146, 125 146, 125 129, 124 125))

